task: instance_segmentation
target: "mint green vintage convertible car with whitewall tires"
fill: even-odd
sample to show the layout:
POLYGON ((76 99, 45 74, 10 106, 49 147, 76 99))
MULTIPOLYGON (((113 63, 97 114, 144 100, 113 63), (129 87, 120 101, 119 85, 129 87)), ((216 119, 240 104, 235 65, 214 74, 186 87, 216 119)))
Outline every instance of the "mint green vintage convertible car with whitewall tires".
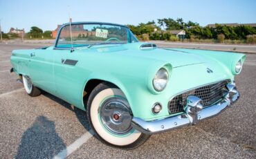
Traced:
POLYGON ((127 26, 64 24, 54 46, 13 50, 11 71, 28 95, 41 90, 86 111, 95 136, 132 149, 150 135, 196 124, 239 98, 234 77, 246 56, 158 48, 127 26))

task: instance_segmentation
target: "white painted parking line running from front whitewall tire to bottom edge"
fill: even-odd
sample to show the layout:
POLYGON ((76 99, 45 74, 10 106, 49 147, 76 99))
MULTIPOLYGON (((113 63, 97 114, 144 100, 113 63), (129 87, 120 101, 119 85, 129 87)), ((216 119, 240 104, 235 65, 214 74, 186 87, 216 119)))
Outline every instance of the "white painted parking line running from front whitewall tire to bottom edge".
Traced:
POLYGON ((76 151, 79 147, 82 146, 82 144, 84 144, 85 142, 87 142, 91 137, 93 137, 93 131, 90 130, 87 133, 84 133, 84 135, 82 135, 80 138, 78 138, 77 140, 75 140, 75 142, 73 142, 71 145, 69 145, 68 147, 66 147, 66 149, 60 151, 60 153, 58 153, 54 159, 60 159, 60 158, 66 158, 68 157, 71 153, 73 153, 74 151, 76 151))

